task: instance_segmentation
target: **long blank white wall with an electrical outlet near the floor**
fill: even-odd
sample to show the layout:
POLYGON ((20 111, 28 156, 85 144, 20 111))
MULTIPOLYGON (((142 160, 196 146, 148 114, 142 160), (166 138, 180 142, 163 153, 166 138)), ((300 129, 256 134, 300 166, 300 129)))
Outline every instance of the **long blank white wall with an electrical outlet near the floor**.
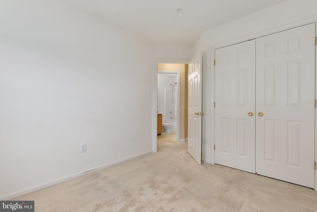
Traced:
POLYGON ((0 26, 0 199, 152 152, 151 46, 59 0, 0 26))

